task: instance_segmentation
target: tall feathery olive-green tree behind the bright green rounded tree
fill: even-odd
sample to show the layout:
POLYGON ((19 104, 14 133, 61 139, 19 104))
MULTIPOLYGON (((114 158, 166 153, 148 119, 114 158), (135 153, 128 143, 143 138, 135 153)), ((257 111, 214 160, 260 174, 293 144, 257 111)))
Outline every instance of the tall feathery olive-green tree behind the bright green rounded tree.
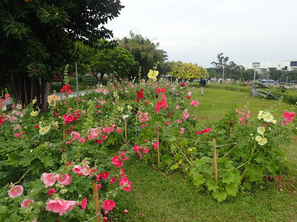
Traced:
MULTIPOLYGON (((160 66, 162 66, 163 62, 167 60, 167 52, 163 49, 157 49, 159 43, 154 44, 149 38, 144 38, 132 31, 130 31, 129 35, 129 38, 124 37, 118 40, 119 46, 131 52, 141 66, 143 77, 146 78, 147 73, 154 67, 156 62, 160 62, 160 66)), ((131 75, 133 77, 138 75, 138 68, 135 68, 131 75)))

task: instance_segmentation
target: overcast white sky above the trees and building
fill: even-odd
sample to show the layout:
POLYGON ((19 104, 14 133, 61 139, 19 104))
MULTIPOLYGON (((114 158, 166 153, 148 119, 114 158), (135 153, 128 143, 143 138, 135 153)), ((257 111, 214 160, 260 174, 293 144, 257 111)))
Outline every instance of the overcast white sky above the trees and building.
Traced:
POLYGON ((114 38, 129 31, 159 42, 169 61, 205 68, 223 52, 229 61, 297 59, 296 0, 122 0, 104 26, 114 38))

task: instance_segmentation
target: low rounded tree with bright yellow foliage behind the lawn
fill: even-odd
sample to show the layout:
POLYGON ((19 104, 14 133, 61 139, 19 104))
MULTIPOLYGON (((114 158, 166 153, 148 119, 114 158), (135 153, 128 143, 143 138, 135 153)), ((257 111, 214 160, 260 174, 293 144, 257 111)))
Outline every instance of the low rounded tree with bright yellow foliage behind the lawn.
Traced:
POLYGON ((181 61, 170 63, 172 65, 172 71, 168 72, 168 75, 184 79, 208 78, 207 70, 203 69, 202 66, 197 66, 192 63, 183 63, 181 61))

